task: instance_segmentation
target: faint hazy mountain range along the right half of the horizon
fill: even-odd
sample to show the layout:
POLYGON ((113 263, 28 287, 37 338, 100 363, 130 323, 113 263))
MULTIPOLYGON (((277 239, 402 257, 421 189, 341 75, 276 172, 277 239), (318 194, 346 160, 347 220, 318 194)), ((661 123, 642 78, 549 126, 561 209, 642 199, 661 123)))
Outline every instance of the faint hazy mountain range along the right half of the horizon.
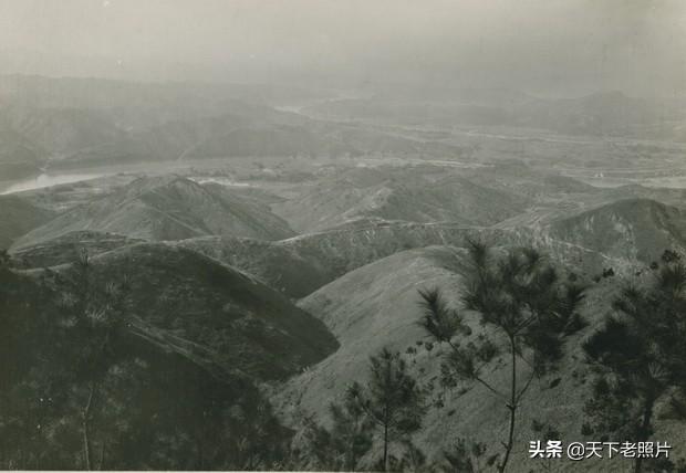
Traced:
POLYGON ((579 98, 544 99, 510 91, 461 91, 433 99, 380 94, 330 101, 305 113, 329 119, 366 119, 443 126, 514 126, 569 135, 615 135, 686 139, 686 99, 634 98, 603 92, 579 98))

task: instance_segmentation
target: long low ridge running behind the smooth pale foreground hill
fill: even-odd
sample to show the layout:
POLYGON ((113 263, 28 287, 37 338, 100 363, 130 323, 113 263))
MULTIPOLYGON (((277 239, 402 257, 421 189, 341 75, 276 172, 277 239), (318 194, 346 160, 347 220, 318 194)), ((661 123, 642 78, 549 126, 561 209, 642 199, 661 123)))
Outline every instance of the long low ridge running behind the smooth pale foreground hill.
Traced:
POLYGON ((467 238, 479 238, 493 244, 533 244, 589 275, 610 266, 617 272, 630 272, 634 266, 630 260, 604 255, 529 228, 475 228, 384 220, 357 223, 276 242, 206 236, 175 244, 239 267, 293 298, 304 297, 350 271, 392 254, 430 245, 461 248, 467 238))

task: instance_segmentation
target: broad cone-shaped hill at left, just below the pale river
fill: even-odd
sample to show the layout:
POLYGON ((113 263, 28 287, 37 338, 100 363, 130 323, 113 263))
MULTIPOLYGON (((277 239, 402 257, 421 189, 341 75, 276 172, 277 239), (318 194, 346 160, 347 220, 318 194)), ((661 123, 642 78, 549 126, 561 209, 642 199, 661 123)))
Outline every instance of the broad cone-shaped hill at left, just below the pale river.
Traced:
POLYGON ((80 230, 146 240, 210 234, 278 240, 293 234, 283 220, 259 202, 167 176, 136 179, 112 195, 69 210, 24 235, 17 246, 80 230))

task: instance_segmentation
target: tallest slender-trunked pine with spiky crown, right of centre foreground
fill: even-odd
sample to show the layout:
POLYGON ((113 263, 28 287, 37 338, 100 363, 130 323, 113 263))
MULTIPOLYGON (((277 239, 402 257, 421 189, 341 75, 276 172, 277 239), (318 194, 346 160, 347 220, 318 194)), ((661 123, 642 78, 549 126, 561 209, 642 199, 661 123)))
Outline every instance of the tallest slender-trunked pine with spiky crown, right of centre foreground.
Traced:
POLYGON ((509 413, 508 437, 498 471, 507 467, 514 444, 517 411, 534 378, 554 368, 562 356, 565 336, 583 322, 576 308, 583 288, 563 281, 557 269, 532 248, 511 249, 495 254, 488 245, 468 241, 469 264, 465 273, 465 308, 476 311, 482 325, 491 328, 465 344, 471 328, 461 313, 445 302, 438 290, 420 291, 420 325, 437 343, 449 347, 441 365, 444 383, 455 386, 472 380, 505 401, 509 413), (484 367, 505 351, 510 377, 507 387, 492 386, 484 377, 484 367), (519 379, 519 361, 529 367, 526 380, 519 379))

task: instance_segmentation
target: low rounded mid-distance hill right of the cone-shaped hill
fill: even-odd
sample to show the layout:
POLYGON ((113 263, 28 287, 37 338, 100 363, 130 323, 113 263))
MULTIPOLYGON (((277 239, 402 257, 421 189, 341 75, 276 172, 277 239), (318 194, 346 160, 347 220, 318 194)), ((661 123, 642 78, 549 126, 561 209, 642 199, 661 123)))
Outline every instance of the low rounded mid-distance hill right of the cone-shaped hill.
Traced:
POLYGON ((295 199, 272 206, 300 232, 360 218, 489 225, 523 210, 528 200, 460 176, 406 169, 352 169, 315 181, 295 199))

